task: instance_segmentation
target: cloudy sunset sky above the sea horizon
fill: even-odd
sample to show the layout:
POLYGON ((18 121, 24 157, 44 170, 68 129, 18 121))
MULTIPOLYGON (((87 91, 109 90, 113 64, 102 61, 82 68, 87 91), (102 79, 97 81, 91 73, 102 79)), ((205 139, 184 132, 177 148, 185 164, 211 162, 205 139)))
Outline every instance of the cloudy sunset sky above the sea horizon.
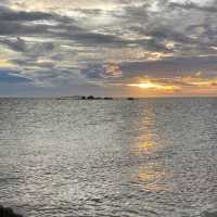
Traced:
POLYGON ((217 0, 1 0, 0 97, 217 95, 217 0))

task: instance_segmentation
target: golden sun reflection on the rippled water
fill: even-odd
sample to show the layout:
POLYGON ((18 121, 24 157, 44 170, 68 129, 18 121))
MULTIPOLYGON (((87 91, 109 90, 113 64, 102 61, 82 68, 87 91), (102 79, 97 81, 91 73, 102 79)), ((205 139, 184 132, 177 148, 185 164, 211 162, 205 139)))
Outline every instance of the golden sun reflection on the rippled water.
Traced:
POLYGON ((138 158, 138 165, 133 169, 133 181, 143 191, 162 192, 171 191, 167 184, 170 177, 163 162, 155 157, 157 152, 164 149, 165 142, 161 135, 153 131, 156 117, 151 107, 144 111, 143 119, 138 123, 139 133, 131 146, 131 152, 138 158))

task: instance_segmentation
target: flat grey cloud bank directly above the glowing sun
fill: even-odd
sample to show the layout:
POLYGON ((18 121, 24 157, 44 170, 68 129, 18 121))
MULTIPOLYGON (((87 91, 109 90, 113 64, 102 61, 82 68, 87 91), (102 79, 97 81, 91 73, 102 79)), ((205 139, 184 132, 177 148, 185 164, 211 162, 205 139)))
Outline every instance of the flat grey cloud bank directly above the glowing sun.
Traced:
POLYGON ((120 68, 129 77, 174 77, 196 72, 217 72, 217 56, 170 58, 162 61, 122 63, 120 68))

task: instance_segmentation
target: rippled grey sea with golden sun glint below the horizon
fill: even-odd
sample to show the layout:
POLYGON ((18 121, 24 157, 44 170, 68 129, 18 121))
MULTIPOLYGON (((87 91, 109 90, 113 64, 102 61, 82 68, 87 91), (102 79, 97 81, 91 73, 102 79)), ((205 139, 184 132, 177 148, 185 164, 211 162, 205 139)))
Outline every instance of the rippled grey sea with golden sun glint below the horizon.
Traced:
POLYGON ((26 217, 216 210, 217 99, 1 99, 0 204, 26 217))

